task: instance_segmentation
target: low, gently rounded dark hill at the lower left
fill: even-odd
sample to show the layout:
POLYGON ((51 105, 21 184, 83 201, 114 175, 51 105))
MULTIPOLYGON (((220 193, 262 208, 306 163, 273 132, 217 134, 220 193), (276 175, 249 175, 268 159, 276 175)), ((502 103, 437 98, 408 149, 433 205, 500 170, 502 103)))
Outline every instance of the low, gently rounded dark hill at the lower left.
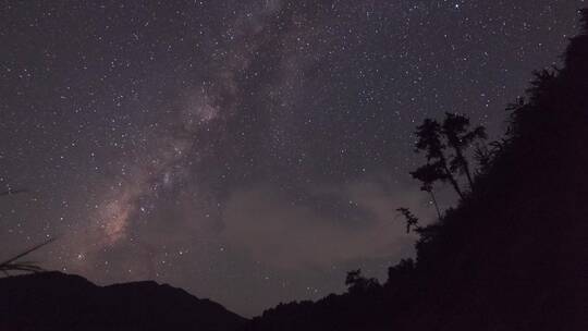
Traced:
POLYGON ((0 330, 234 330, 245 319, 156 282, 97 286, 60 272, 0 279, 0 330))

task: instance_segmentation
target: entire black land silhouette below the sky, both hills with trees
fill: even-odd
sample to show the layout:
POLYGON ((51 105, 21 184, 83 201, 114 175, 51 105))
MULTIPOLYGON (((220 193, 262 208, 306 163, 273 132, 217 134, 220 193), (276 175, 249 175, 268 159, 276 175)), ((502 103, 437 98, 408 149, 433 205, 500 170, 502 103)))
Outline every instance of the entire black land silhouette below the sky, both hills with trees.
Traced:
POLYGON ((507 107, 503 138, 483 143, 483 130, 455 114, 419 126, 427 163, 413 176, 433 199, 434 185, 449 185, 458 201, 429 225, 399 206, 419 234, 417 257, 391 267, 383 284, 354 270, 344 294, 247 321, 154 282, 11 277, 0 280, 0 329, 588 330, 588 10, 580 14, 563 66, 536 72, 507 107))

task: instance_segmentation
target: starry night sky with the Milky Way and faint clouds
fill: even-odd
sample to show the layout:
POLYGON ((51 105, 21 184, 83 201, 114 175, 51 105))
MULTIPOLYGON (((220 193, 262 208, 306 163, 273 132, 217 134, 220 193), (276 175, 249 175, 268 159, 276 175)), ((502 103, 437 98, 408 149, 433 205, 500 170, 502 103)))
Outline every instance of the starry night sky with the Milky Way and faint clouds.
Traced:
MULTIPOLYGON (((244 316, 383 278, 415 126, 492 137, 581 0, 0 2, 0 255, 244 316)), ((439 187, 441 207, 455 197, 439 187)))

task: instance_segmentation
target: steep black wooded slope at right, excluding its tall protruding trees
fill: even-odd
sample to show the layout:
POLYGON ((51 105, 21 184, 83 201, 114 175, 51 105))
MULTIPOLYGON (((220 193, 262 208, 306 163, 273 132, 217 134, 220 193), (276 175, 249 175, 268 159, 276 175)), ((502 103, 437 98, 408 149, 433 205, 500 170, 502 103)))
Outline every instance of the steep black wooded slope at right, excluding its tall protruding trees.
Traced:
POLYGON ((588 12, 564 68, 509 107, 471 192, 421 229, 417 261, 247 330, 588 330, 588 12))

